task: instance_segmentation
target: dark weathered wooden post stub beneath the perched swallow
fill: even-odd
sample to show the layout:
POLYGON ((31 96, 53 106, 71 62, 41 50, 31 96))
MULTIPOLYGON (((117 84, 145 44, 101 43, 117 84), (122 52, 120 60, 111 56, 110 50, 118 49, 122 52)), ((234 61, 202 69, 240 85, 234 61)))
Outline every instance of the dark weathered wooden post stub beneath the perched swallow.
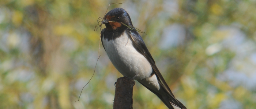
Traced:
POLYGON ((113 109, 133 109, 132 90, 135 81, 128 77, 120 77, 116 81, 116 92, 113 109))

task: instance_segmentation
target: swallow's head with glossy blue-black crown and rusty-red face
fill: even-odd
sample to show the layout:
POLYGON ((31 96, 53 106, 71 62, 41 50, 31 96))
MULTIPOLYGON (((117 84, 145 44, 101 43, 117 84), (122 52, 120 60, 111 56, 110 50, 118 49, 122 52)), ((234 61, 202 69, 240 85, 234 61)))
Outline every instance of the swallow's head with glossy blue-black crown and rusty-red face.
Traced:
POLYGON ((123 8, 114 8, 109 11, 102 23, 106 25, 107 30, 116 30, 125 25, 133 27, 129 14, 123 8))

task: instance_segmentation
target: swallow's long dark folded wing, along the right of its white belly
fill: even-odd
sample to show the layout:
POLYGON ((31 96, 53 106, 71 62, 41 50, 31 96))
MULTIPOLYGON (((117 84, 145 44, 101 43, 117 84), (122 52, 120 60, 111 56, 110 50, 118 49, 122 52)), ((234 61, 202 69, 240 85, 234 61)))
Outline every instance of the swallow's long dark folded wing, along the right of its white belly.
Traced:
POLYGON ((176 105, 181 109, 187 109, 180 101, 178 101, 174 97, 172 91, 170 90, 169 86, 165 82, 162 74, 159 72, 157 66, 155 65, 155 61, 154 61, 153 57, 151 56, 150 52, 148 51, 148 49, 147 49, 142 37, 139 35, 139 33, 132 29, 127 29, 127 33, 129 36, 131 36, 133 43, 139 49, 139 51, 142 53, 142 55, 144 55, 147 58, 147 60, 150 62, 151 66, 154 70, 153 73, 155 73, 155 75, 157 76, 160 86, 162 86, 162 88, 166 91, 166 93, 169 94, 168 96, 170 98, 170 102, 173 105, 176 105))

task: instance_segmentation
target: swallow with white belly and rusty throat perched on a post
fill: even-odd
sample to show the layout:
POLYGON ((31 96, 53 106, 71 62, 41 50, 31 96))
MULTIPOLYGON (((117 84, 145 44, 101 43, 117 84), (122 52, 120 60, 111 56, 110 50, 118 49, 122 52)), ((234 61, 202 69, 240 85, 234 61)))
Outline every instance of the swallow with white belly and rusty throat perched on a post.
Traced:
POLYGON ((169 109, 174 109, 172 105, 187 109, 174 97, 125 9, 112 9, 103 17, 101 24, 106 27, 101 31, 103 48, 118 72, 137 80, 169 109))

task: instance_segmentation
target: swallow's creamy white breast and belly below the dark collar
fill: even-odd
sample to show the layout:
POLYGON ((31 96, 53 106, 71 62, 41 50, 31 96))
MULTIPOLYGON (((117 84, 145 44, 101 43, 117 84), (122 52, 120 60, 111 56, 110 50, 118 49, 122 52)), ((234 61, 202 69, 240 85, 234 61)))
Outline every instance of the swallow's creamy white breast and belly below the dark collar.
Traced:
POLYGON ((135 80, 150 77, 150 63, 133 47, 131 37, 126 32, 109 41, 103 36, 102 42, 110 61, 121 74, 130 78, 137 74, 135 80))

